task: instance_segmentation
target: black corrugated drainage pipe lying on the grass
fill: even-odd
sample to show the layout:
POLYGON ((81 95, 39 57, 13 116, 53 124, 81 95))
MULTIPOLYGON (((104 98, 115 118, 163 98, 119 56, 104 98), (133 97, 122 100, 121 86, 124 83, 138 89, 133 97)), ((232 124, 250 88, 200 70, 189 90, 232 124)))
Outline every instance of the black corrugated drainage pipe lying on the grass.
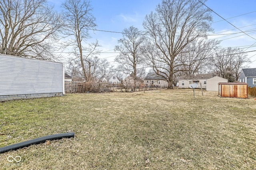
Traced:
POLYGON ((30 146, 32 144, 44 143, 46 140, 57 140, 57 139, 62 139, 62 138, 71 138, 71 137, 74 137, 74 134, 75 134, 74 132, 52 134, 49 136, 44 136, 44 137, 35 138, 35 139, 27 140, 24 142, 16 143, 16 144, 11 144, 9 146, 4 146, 4 147, 0 148, 0 154, 2 154, 4 152, 8 152, 10 150, 17 150, 20 148, 24 148, 24 147, 30 146))

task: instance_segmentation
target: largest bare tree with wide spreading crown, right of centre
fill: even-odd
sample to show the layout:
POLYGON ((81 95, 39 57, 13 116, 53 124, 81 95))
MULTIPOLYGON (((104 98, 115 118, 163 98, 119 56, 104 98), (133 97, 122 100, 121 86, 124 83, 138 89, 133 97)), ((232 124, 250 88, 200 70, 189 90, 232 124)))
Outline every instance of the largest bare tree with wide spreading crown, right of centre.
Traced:
POLYGON ((210 10, 195 0, 162 0, 156 12, 146 15, 144 29, 158 50, 151 57, 152 65, 166 77, 168 89, 173 88, 177 56, 197 38, 206 37, 211 20, 210 10))

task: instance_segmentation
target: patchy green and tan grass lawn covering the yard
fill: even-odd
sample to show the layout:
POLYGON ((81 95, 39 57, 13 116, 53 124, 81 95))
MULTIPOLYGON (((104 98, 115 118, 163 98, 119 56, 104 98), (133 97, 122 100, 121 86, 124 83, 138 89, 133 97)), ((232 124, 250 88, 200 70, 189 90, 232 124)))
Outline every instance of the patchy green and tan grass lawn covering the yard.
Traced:
POLYGON ((0 169, 256 170, 256 100, 191 89, 70 94, 0 103, 0 169), (7 157, 21 156, 21 166, 7 157))

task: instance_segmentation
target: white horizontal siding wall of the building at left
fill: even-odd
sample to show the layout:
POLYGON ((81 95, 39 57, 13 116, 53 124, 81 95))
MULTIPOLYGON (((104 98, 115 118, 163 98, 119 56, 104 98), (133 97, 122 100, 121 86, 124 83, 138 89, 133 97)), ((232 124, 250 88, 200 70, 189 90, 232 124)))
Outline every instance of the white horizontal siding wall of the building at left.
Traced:
POLYGON ((63 64, 0 55, 0 95, 63 93, 63 64))

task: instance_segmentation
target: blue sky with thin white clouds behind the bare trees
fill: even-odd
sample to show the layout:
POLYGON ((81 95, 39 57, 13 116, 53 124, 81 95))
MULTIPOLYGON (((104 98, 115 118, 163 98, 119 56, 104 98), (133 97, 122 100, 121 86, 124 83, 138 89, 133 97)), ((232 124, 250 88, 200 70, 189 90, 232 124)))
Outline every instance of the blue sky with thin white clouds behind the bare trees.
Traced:
MULTIPOLYGON (((64 2, 64 0, 49 1, 49 3, 54 4, 56 10, 60 10, 59 7, 62 2, 64 2)), ((143 30, 142 22, 145 15, 154 11, 156 5, 160 2, 161 0, 91 0, 91 5, 93 7, 92 13, 96 18, 96 24, 98 25, 96 29, 122 32, 124 28, 134 26, 143 30)), ((252 36, 251 38, 244 33, 240 33, 225 37, 224 35, 209 36, 209 38, 222 40, 220 44, 222 47, 245 48, 254 43, 254 45, 256 45, 256 32, 253 31, 253 29, 256 30, 256 0, 208 0, 205 4, 223 18, 231 18, 228 19, 228 22, 232 23, 237 28, 240 28, 240 30, 244 32, 248 30, 251 31, 247 32, 247 34, 252 36)), ((213 12, 212 16, 212 28, 214 28, 215 33, 231 34, 240 32, 213 12)), ((91 36, 92 39, 90 41, 98 39, 100 45, 102 45, 102 51, 107 51, 107 53, 102 53, 100 58, 107 58, 111 64, 115 64, 114 58, 118 53, 114 53, 113 49, 115 45, 118 45, 117 40, 122 38, 122 34, 95 31, 91 36)), ((256 50, 256 47, 250 47, 246 51, 254 50, 256 50)), ((248 53, 248 57, 254 62, 247 65, 247 67, 256 67, 256 52, 248 53)))

